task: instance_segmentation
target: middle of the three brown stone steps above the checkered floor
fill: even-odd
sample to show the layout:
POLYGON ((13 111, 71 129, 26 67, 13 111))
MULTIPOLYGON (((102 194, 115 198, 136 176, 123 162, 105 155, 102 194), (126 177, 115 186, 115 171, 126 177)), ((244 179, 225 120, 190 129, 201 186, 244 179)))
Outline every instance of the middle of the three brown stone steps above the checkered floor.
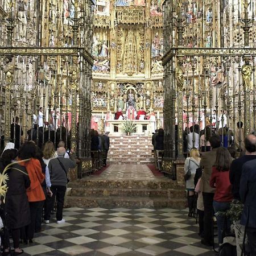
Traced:
POLYGON ((98 197, 164 197, 179 199, 185 197, 185 189, 127 189, 127 188, 75 188, 71 196, 98 196, 98 197))

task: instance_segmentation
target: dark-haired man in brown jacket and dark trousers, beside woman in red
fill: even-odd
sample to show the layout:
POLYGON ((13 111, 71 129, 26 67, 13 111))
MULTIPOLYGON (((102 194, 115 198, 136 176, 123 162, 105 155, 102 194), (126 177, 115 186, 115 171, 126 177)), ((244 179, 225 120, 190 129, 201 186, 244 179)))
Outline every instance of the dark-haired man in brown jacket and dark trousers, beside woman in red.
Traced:
POLYGON ((212 236, 212 221, 213 221, 213 196, 215 189, 210 187, 209 181, 212 175, 212 167, 216 161, 217 148, 220 147, 221 141, 220 137, 213 135, 209 139, 212 151, 203 152, 200 166, 203 169, 203 174, 201 178, 201 191, 203 192, 204 201, 204 239, 201 243, 206 246, 212 246, 213 236, 212 236))

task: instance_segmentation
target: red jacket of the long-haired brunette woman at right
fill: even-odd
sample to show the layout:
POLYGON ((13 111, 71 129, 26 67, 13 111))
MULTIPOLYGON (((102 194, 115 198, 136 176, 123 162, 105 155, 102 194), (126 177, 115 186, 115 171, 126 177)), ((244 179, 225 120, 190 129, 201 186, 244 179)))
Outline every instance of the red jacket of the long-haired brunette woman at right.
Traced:
POLYGON ((229 181, 229 171, 218 171, 212 167, 212 176, 210 177, 210 187, 216 188, 213 200, 218 202, 230 202, 233 199, 232 185, 229 181))

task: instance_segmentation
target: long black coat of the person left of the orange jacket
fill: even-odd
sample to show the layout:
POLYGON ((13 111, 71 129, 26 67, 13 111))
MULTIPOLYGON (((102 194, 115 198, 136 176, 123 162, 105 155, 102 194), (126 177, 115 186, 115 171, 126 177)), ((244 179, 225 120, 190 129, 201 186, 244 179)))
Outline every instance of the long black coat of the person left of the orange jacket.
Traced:
MULTIPOLYGON (((1 163, 0 163, 1 164, 1 163)), ((14 164, 13 168, 7 171, 7 193, 5 200, 6 223, 9 229, 18 229, 30 224, 30 207, 28 204, 26 188, 30 187, 30 178, 26 168, 19 164, 14 164)), ((0 166, 1 172, 3 167, 0 166)))

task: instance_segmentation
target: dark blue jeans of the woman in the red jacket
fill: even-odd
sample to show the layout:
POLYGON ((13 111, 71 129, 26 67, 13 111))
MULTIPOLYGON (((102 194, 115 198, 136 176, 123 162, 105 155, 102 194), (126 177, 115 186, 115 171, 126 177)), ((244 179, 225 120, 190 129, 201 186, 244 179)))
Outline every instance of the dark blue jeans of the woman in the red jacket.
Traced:
MULTIPOLYGON (((215 214, 217 212, 225 212, 230 208, 230 202, 217 202, 213 201, 213 208, 215 214)), ((216 215, 217 219, 217 226, 218 226, 218 243, 221 244, 223 242, 223 230, 224 230, 224 224, 225 224, 225 217, 221 214, 216 215)), ((225 232, 230 231, 230 220, 226 219, 226 225, 225 225, 225 232)))

